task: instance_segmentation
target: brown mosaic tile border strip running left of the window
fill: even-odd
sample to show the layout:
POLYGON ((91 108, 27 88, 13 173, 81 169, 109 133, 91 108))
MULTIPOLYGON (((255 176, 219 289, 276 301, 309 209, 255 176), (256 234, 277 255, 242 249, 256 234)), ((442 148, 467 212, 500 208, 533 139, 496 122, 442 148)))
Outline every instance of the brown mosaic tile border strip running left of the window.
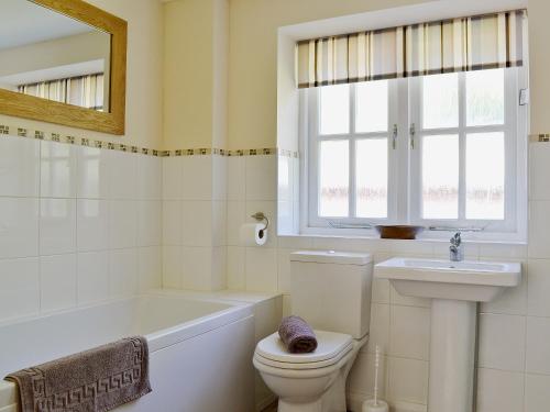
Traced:
POLYGON ((10 134, 10 131, 15 131, 15 129, 11 129, 9 125, 0 124, 0 135, 10 135, 25 138, 36 138, 40 141, 46 142, 57 142, 65 144, 73 144, 86 147, 96 147, 103 148, 108 151, 119 151, 134 154, 142 154, 146 156, 156 156, 156 157, 179 157, 179 156, 206 156, 206 155, 218 155, 218 156, 227 156, 227 157, 235 157, 235 156, 265 156, 265 155, 279 155, 285 157, 294 157, 298 158, 298 152, 277 149, 275 147, 268 148, 245 148, 245 149, 234 149, 228 151, 224 148, 209 148, 209 147, 199 147, 199 148, 182 148, 175 151, 157 151, 153 148, 146 147, 138 147, 125 145, 123 143, 111 143, 111 142, 102 142, 96 140, 89 140, 86 137, 76 137, 70 135, 62 135, 61 133, 46 133, 43 131, 34 130, 30 131, 23 127, 16 127, 16 135, 10 134))

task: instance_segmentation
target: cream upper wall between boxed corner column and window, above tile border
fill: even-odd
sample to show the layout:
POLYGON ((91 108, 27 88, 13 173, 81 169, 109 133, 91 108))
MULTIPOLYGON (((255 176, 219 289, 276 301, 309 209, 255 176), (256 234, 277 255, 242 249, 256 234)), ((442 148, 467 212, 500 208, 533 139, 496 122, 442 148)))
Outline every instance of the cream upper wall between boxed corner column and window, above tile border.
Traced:
POLYGON ((231 0, 229 148, 277 144, 277 29, 421 0, 231 0))

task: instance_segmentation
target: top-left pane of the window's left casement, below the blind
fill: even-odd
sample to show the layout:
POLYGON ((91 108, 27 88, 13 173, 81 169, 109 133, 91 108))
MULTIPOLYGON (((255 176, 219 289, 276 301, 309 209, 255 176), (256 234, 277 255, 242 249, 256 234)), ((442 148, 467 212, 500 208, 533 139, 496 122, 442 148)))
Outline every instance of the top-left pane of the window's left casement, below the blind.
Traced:
POLYGON ((320 133, 350 132, 350 86, 337 85, 320 88, 320 133))

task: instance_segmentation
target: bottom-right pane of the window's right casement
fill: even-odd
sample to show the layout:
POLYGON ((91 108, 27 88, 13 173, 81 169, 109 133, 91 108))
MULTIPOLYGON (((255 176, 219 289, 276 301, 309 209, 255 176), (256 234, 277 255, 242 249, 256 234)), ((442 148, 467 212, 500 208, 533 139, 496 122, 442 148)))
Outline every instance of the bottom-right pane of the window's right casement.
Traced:
POLYGON ((466 136, 466 219, 504 219, 504 133, 466 136))

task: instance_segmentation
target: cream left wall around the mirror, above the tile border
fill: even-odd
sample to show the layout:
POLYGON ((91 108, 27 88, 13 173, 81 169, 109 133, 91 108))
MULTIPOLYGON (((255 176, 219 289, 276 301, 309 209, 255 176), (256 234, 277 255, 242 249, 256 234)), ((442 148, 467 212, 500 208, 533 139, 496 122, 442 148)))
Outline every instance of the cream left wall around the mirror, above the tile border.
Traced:
POLYGON ((88 0, 128 21, 127 132, 114 136, 0 114, 0 124, 160 148, 162 144, 163 15, 157 0, 88 0))

